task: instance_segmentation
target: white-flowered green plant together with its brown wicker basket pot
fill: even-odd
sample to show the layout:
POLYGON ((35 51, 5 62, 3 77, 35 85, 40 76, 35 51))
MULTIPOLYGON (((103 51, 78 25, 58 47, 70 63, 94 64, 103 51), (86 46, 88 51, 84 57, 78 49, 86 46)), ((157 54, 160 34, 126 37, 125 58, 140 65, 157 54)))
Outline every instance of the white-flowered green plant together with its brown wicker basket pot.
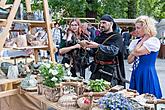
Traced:
POLYGON ((62 64, 54 64, 52 62, 42 63, 39 67, 42 77, 43 91, 45 97, 50 101, 58 101, 60 97, 60 85, 64 77, 64 69, 62 64))

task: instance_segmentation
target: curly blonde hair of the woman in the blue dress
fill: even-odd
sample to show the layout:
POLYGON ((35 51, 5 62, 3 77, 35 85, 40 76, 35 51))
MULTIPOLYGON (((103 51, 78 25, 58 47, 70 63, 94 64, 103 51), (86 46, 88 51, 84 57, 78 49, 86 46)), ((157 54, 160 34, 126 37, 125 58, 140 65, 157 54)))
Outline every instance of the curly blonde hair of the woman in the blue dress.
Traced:
POLYGON ((144 26, 145 34, 148 34, 150 37, 156 36, 156 21, 153 18, 148 16, 139 16, 135 23, 141 23, 144 26))

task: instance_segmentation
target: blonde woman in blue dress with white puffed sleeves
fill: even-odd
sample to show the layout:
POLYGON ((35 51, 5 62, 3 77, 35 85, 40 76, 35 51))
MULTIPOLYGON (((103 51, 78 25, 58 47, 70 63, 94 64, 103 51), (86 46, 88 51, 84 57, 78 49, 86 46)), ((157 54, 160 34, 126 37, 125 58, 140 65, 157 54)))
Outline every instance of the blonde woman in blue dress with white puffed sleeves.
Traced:
POLYGON ((155 61, 160 49, 160 41, 156 38, 154 19, 140 16, 135 22, 135 31, 140 36, 137 43, 132 44, 133 50, 128 56, 128 63, 133 63, 130 89, 139 94, 149 93, 161 98, 161 88, 155 69, 155 61))

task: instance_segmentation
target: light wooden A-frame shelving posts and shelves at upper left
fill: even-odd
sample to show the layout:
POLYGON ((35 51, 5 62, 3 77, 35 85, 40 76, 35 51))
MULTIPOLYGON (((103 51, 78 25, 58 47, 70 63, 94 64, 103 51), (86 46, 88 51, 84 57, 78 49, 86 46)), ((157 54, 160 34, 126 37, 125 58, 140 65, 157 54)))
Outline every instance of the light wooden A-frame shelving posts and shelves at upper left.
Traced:
MULTIPOLYGON (((36 47, 22 47, 23 49, 34 49, 34 55, 35 55, 35 62, 38 61, 38 50, 40 49, 47 49, 50 50, 50 57, 53 62, 55 62, 54 59, 54 51, 55 48, 53 47, 53 40, 52 40, 52 33, 51 33, 51 24, 49 17, 49 9, 48 9, 48 1, 43 0, 43 7, 44 7, 44 17, 45 21, 33 21, 33 20, 14 20, 14 17, 16 15, 16 12, 18 10, 18 7, 20 5, 21 0, 15 0, 13 3, 13 6, 11 8, 11 11, 7 17, 7 19, 0 19, 0 26, 3 27, 3 31, 0 33, 0 51, 3 50, 3 45, 5 43, 6 37, 9 34, 10 27, 12 23, 28 23, 32 27, 46 27, 46 31, 48 34, 48 46, 36 46, 36 47)), ((6 4, 6 0, 1 0, 0 6, 4 7, 6 4)), ((26 8, 27 12, 31 12, 31 6, 30 6, 30 0, 26 0, 26 8)), ((18 49, 18 48, 15 48, 18 49)))

